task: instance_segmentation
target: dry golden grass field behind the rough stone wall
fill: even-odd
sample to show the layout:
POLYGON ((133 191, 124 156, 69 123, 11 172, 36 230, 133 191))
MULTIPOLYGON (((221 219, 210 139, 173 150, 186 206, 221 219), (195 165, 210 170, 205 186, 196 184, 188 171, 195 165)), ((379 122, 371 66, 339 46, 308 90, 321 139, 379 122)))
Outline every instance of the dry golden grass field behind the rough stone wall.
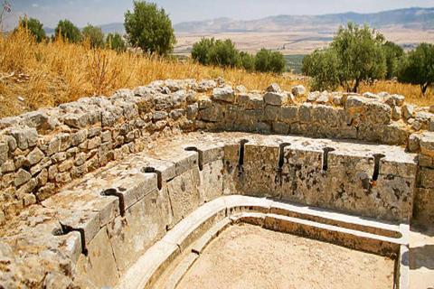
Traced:
MULTIPOLYGON (((290 90, 306 80, 270 73, 205 67, 193 61, 174 61, 132 52, 90 49, 88 42, 36 43, 19 29, 0 34, 0 117, 9 117, 40 107, 58 106, 93 95, 109 96, 117 89, 147 85, 156 79, 216 79, 222 76, 232 86, 266 89, 277 82, 290 90)), ((433 103, 433 92, 421 98, 416 86, 381 82, 363 91, 400 93, 420 106, 433 103)), ((298 99, 301 101, 302 99, 298 99)))

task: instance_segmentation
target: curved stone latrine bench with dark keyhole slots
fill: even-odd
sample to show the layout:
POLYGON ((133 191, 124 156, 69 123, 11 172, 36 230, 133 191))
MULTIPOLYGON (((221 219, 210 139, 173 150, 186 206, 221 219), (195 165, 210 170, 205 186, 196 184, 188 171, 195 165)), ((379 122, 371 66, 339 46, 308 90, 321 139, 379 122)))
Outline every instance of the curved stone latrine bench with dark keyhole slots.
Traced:
MULTIPOLYGON (((222 200, 239 200, 222 198, 228 195, 269 197, 383 222, 411 217, 417 155, 398 146, 242 133, 191 133, 161 144, 88 173, 7 222, 0 233, 2 251, 9 252, 2 282, 12 287, 114 286, 140 256, 160 254, 163 248, 147 251, 163 238, 186 239, 158 245, 164 254, 172 252, 165 256, 170 263, 191 244, 189 239, 199 238, 240 206, 279 212, 263 201, 255 205, 256 200, 222 205, 222 200), (205 203, 210 205, 204 208, 217 207, 198 213, 205 203)), ((344 227, 378 233, 380 228, 360 228, 361 220, 344 227)), ((339 227, 336 222, 348 219, 326 224, 339 227)), ((382 224, 382 231, 387 226, 382 224)), ((402 238, 391 226, 382 235, 402 238)))

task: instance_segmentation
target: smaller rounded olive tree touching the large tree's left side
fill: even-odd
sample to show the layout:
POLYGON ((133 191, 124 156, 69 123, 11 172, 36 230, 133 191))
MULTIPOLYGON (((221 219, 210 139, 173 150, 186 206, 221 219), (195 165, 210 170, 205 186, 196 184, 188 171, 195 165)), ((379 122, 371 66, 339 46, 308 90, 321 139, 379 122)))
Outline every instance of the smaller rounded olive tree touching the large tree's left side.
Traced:
POLYGON ((335 90, 339 86, 339 59, 336 51, 327 48, 325 51, 314 51, 307 61, 305 70, 313 77, 310 79, 312 90, 335 90))

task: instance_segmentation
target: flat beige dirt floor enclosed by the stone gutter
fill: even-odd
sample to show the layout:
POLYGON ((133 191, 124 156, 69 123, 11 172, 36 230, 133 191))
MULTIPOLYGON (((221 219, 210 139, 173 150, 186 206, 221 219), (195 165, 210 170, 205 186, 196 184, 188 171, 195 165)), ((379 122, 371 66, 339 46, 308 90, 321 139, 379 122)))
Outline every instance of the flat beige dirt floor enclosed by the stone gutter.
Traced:
POLYGON ((393 261, 251 225, 216 238, 181 288, 392 288, 393 261))

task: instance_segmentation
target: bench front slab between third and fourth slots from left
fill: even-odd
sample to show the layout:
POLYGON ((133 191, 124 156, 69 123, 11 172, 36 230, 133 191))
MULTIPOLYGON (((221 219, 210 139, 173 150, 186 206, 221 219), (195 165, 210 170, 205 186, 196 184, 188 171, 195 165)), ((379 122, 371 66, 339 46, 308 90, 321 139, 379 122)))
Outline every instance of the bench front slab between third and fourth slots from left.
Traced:
POLYGON ((203 202, 198 191, 198 176, 199 169, 196 168, 176 176, 167 183, 174 225, 196 210, 203 202))

